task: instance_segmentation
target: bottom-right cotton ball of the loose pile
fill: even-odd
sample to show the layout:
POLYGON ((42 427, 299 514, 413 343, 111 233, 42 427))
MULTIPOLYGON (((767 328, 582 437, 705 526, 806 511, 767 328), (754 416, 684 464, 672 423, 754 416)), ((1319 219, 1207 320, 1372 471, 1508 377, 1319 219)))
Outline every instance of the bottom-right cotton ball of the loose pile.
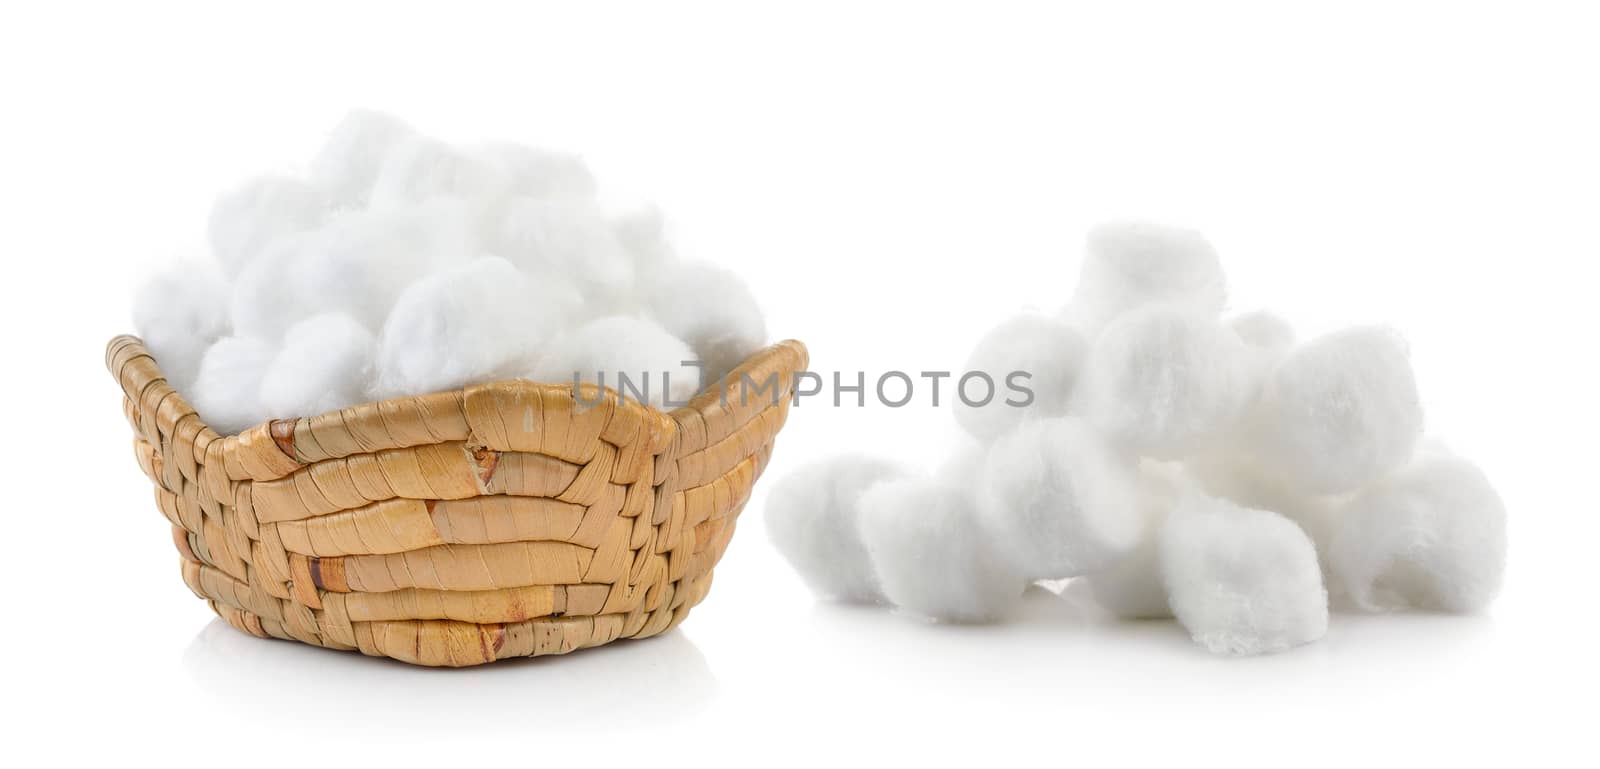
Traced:
POLYGON ((1339 508, 1330 561, 1363 609, 1477 611, 1506 571, 1506 505, 1472 462, 1424 449, 1339 508))

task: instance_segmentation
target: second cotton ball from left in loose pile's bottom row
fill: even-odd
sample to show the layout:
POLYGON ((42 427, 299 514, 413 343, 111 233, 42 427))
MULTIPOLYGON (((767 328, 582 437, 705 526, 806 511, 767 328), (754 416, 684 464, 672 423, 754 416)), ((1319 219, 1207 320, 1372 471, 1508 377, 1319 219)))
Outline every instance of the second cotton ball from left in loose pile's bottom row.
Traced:
POLYGON ((861 540, 883 596, 901 609, 954 622, 1011 611, 1027 577, 994 553, 971 494, 926 478, 883 481, 861 496, 861 540))

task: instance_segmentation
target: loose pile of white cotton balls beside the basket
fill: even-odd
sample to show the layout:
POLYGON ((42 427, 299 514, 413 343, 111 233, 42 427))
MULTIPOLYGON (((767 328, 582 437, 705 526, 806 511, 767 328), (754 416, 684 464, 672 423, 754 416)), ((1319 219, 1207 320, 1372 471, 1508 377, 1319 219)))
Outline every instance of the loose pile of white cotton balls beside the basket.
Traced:
POLYGON ((1032 374, 1029 408, 955 403, 978 448, 936 475, 842 456, 771 491, 773 542, 811 588, 982 622, 1030 582, 1082 577, 1120 617, 1174 617, 1214 652, 1322 638, 1330 593, 1365 611, 1474 611, 1496 593, 1506 510, 1422 441, 1405 342, 1296 344, 1224 318, 1197 232, 1094 229, 1061 317, 990 331, 968 371, 1032 374))

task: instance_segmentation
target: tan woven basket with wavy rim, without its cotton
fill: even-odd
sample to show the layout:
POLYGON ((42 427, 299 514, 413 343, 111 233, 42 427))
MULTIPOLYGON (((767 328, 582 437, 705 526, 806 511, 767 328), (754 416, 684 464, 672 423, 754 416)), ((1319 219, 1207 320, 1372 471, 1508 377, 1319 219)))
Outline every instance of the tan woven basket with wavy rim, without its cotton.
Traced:
POLYGON ((112 339, 106 365, 184 582, 227 624, 459 667, 682 622, 771 457, 806 350, 768 347, 669 412, 509 381, 226 436, 139 339, 112 339))

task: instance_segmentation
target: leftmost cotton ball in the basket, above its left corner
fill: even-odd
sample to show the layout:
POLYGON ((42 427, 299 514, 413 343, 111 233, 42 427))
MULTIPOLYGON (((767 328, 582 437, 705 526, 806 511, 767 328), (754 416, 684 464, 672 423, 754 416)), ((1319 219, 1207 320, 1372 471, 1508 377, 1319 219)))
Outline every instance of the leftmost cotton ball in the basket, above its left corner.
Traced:
POLYGON ((208 262, 179 264, 155 275, 134 293, 133 328, 166 384, 186 393, 206 347, 229 333, 227 283, 208 262))

